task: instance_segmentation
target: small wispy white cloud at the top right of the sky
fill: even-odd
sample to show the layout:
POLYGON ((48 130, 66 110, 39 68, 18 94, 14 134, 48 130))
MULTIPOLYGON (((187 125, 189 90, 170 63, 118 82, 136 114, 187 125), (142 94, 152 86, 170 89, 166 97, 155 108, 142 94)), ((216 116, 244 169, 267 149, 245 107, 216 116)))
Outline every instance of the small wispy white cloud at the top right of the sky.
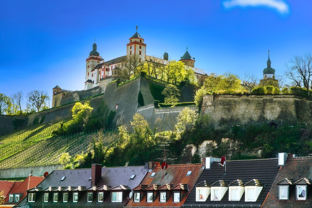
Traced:
POLYGON ((280 13, 289 11, 288 5, 283 0, 228 0, 223 2, 224 7, 257 7, 265 6, 276 9, 280 13))

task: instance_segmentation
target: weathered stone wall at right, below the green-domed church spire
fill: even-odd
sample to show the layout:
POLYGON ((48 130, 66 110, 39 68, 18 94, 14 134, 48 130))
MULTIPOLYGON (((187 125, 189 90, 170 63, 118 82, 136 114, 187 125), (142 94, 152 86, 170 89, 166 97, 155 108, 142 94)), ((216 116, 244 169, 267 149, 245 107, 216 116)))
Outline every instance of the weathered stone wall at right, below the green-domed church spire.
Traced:
POLYGON ((216 124, 296 120, 310 103, 294 95, 204 95, 202 114, 216 124))

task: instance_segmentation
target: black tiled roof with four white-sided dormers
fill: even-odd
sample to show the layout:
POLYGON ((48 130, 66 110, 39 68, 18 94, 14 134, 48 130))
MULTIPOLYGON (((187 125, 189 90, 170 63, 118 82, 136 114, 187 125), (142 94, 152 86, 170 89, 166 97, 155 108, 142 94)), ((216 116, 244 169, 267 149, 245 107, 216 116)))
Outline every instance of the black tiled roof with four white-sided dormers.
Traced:
POLYGON ((218 162, 213 162, 210 169, 203 170, 196 184, 200 184, 202 181, 251 181, 253 179, 257 179, 264 185, 257 201, 245 202, 245 193, 241 197, 240 201, 229 201, 229 193, 227 191, 221 201, 210 201, 210 196, 208 196, 205 202, 199 202, 196 201, 195 198, 196 189, 193 189, 183 206, 216 205, 222 207, 233 207, 239 205, 262 205, 273 184, 279 168, 278 159, 227 161, 227 172, 224 174, 225 167, 218 165, 218 162))

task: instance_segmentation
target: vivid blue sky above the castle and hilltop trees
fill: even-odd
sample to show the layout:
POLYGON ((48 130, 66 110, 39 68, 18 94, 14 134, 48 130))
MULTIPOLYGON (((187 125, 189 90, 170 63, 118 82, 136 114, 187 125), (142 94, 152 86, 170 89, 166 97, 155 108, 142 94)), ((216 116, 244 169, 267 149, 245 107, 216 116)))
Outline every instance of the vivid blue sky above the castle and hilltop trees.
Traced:
POLYGON ((0 93, 82 90, 94 37, 105 60, 123 56, 138 25, 147 54, 186 50, 206 73, 276 75, 311 52, 310 0, 15 1, 0 8, 0 93))

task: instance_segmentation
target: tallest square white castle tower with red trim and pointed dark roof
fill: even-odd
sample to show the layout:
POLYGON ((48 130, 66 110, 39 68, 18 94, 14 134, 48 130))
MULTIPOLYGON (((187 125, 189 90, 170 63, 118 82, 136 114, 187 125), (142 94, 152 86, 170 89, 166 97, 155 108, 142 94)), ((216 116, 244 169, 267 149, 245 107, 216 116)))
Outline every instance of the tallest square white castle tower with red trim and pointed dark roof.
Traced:
POLYGON ((146 44, 138 33, 138 26, 136 26, 136 32, 129 38, 129 43, 127 44, 127 56, 132 54, 138 54, 142 61, 146 58, 146 44))

